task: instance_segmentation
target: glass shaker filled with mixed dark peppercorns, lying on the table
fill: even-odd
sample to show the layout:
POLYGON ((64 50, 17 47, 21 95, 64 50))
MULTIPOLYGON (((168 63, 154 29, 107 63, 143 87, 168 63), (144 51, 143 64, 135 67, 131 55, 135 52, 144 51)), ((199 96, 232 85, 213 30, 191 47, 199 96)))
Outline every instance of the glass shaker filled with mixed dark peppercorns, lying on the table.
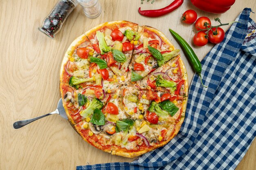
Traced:
POLYGON ((76 6, 77 2, 75 0, 59 0, 43 21, 43 25, 38 27, 39 31, 45 33, 50 38, 54 38, 76 6))

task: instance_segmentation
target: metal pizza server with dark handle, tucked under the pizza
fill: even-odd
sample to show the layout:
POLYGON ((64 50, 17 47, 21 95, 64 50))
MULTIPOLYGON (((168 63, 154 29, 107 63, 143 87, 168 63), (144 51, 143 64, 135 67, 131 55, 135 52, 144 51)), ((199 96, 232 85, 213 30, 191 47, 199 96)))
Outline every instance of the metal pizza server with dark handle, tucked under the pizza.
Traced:
POLYGON ((53 115, 53 114, 59 114, 64 119, 67 119, 67 115, 66 115, 65 109, 63 108, 63 105, 62 105, 62 99, 60 99, 58 101, 58 107, 57 107, 57 109, 55 111, 53 111, 51 113, 48 113, 46 115, 42 115, 42 116, 39 116, 39 117, 32 118, 32 119, 16 121, 13 124, 13 128, 15 128, 15 129, 22 128, 23 126, 25 126, 27 124, 30 124, 31 122, 33 122, 35 120, 38 120, 38 119, 41 119, 43 117, 46 117, 46 116, 49 116, 49 115, 53 115))

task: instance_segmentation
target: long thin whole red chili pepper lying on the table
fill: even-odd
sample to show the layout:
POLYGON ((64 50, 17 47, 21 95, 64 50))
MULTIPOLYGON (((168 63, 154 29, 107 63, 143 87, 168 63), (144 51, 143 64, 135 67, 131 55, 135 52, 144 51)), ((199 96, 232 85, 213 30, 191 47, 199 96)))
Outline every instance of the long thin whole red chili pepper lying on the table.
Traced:
POLYGON ((144 10, 141 11, 139 7, 139 13, 141 15, 147 16, 147 17, 159 17, 162 15, 165 15, 167 13, 170 13, 181 6, 183 3, 183 0, 174 0, 171 4, 169 4, 167 7, 161 8, 161 9, 155 9, 155 10, 144 10))

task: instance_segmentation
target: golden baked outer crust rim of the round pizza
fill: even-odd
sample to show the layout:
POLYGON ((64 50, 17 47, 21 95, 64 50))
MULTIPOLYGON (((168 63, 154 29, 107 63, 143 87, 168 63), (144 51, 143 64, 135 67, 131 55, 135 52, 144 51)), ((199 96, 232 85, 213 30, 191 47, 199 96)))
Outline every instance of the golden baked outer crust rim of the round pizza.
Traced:
MULTIPOLYGON (((102 28, 105 28, 105 27, 108 27, 108 26, 119 26, 119 25, 127 25, 127 26, 130 26, 132 27, 133 29, 138 29, 139 26, 138 24, 135 24, 135 23, 132 23, 132 22, 128 22, 128 21, 112 21, 112 22, 106 22, 106 23, 103 23, 103 24, 99 24, 97 26, 95 26, 94 28, 90 29, 89 31, 86 31, 83 35, 80 35, 78 38, 76 38, 71 44, 70 46, 68 47, 64 57, 63 57, 63 61, 62 61, 62 64, 61 64, 61 71, 60 71, 60 91, 61 91, 61 95, 63 97, 63 89, 61 88, 61 85, 62 85, 62 79, 63 79, 63 73, 65 72, 64 70, 64 66, 66 65, 66 63, 68 62, 68 58, 70 56, 72 56, 73 52, 74 52, 74 49, 76 49, 77 46, 79 46, 81 43, 85 42, 86 40, 88 40, 88 36, 93 34, 93 33, 96 33, 96 31, 98 30, 101 30, 102 28)), ((166 38, 166 36, 161 32, 161 31, 158 31, 157 29, 155 28, 152 28, 150 26, 143 26, 143 28, 146 28, 154 33, 156 33, 161 39, 162 41, 164 41, 166 44, 169 44, 170 46, 172 46, 173 50, 175 50, 175 47, 173 46, 173 44, 171 43, 170 40, 168 40, 166 38)), ((89 38, 90 39, 90 38, 89 38)), ((186 68, 184 66, 184 63, 182 62, 181 58, 179 58, 179 62, 180 62, 180 66, 181 66, 181 69, 182 69, 182 73, 184 74, 184 80, 185 80, 185 83, 184 83, 184 88, 185 88, 185 92, 186 92, 186 96, 188 95, 188 79, 187 79, 187 74, 186 74, 186 68)), ((136 156, 139 156, 139 155, 142 155, 146 152, 149 152, 151 150, 154 150, 156 148, 159 148, 161 146, 164 146, 166 145, 171 139, 173 139, 173 137, 175 137, 177 135, 177 133, 179 132, 180 130, 180 127, 182 125, 182 122, 184 121, 184 115, 185 115, 185 110, 186 110, 186 103, 187 103, 187 97, 184 98, 183 100, 183 107, 182 107, 182 115, 181 115, 181 118, 180 118, 180 121, 175 125, 175 129, 174 129, 174 132, 168 137, 167 140, 165 141, 162 141, 160 144, 155 144, 155 146, 153 147, 149 147, 148 149, 145 149, 145 150, 139 150, 139 151, 135 151, 135 152, 125 152, 124 148, 121 148, 120 146, 113 146, 113 147, 110 147, 110 148, 106 148, 104 149, 100 144, 98 144, 96 141, 89 141, 81 132, 81 130, 79 130, 78 127, 76 127, 77 124, 75 124, 74 120, 72 119, 69 111, 68 111, 68 108, 66 105, 63 104, 64 108, 65 108, 65 111, 67 113, 67 117, 68 117, 68 120, 70 122, 70 124, 72 125, 72 127, 74 128, 74 130, 76 130, 76 132, 85 140, 87 141, 89 144, 91 144, 92 146, 96 147, 96 148, 99 148, 105 152, 109 152, 111 153, 112 155, 119 155, 119 156, 123 156, 123 157, 136 157, 136 156)))

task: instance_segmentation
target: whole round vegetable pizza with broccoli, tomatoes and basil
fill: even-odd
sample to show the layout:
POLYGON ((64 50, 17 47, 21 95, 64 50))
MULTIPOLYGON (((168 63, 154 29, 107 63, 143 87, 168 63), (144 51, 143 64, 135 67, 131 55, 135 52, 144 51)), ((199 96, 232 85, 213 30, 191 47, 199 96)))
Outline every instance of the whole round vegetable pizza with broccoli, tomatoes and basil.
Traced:
POLYGON ((72 127, 92 146, 123 157, 167 144, 180 130, 188 95, 179 51, 157 29, 128 21, 76 38, 60 73, 72 127))

